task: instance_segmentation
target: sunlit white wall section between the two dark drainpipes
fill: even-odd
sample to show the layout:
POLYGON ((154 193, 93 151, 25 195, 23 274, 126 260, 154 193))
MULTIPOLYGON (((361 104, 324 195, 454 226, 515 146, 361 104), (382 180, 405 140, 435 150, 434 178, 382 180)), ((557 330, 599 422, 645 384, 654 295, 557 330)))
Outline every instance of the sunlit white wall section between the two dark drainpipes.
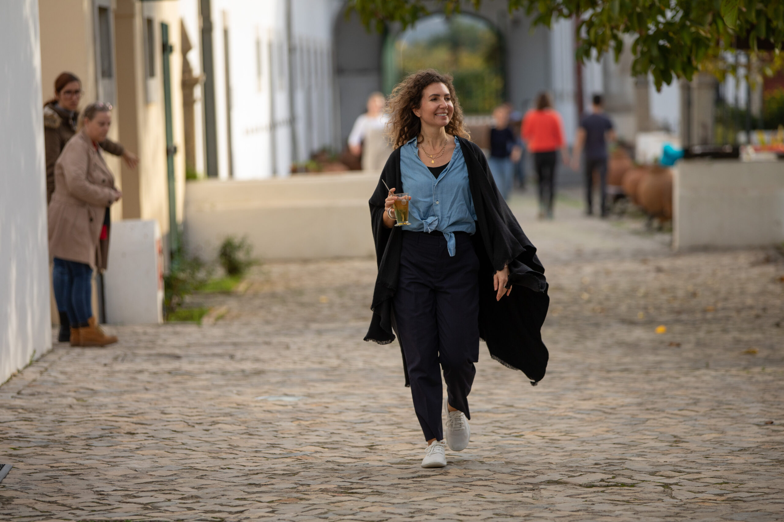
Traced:
POLYGON ((212 23, 219 177, 288 175, 291 130, 285 2, 213 0, 212 23), (229 37, 230 108, 224 27, 229 37))

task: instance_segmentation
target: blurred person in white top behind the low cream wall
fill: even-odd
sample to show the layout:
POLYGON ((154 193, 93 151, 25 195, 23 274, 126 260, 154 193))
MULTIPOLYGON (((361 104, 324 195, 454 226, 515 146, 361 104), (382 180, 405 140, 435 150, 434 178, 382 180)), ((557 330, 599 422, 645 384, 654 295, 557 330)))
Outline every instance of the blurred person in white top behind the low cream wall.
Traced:
POLYGON ((348 147, 354 156, 361 157, 363 171, 380 171, 392 152, 392 147, 384 135, 387 115, 384 106, 387 99, 381 92, 373 92, 368 97, 368 112, 360 114, 348 135, 348 147))

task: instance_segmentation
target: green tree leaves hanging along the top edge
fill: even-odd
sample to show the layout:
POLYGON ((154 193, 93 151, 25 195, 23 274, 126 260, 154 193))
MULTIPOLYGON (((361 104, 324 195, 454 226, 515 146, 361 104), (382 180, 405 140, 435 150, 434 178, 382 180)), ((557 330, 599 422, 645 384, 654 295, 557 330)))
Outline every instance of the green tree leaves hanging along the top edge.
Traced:
MULTIPOLYGON (((691 80, 698 70, 735 74, 735 66, 724 63, 724 52, 736 39, 749 42, 751 52, 763 61, 765 74, 773 74, 784 62, 784 0, 506 1, 510 13, 523 10, 535 25, 550 27, 559 18, 578 19, 575 57, 581 62, 593 52, 612 52, 618 59, 624 42, 631 41, 632 74, 652 74, 656 88, 675 78, 691 80), (766 57, 757 53, 758 43, 777 50, 766 57)), ((460 0, 427 3, 446 13, 460 10, 460 0)), ((469 3, 477 8, 481 0, 469 3)), ((408 27, 430 14, 423 0, 349 0, 349 9, 359 14, 365 27, 375 26, 377 31, 389 22, 408 27)))

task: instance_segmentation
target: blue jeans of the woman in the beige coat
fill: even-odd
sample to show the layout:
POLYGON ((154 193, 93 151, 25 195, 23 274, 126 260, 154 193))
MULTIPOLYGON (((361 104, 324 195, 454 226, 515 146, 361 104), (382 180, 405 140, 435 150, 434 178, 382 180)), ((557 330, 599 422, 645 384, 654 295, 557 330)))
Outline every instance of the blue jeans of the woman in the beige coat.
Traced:
POLYGON ((57 310, 68 314, 71 326, 87 326, 93 316, 93 268, 55 257, 52 279, 57 310))

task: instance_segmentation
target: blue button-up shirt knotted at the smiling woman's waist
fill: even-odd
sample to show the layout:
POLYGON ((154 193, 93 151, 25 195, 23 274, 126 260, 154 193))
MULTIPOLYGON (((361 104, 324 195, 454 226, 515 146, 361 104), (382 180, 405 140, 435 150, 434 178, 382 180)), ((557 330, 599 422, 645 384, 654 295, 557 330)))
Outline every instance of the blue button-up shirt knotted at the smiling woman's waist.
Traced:
POLYGON ((408 222, 405 230, 414 232, 444 232, 449 255, 455 255, 455 233, 477 231, 477 213, 468 185, 468 167, 455 138, 455 152, 448 167, 435 178, 419 159, 416 138, 400 151, 400 171, 403 192, 411 196, 408 203, 408 222))

